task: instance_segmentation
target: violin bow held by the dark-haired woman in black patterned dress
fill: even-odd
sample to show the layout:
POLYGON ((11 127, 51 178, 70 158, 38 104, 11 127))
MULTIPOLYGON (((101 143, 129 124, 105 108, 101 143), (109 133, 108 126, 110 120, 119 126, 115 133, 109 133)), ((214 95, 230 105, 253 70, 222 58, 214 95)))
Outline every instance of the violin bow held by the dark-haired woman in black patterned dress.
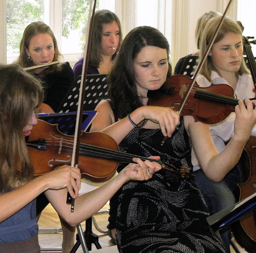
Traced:
POLYGON ((182 109, 183 109, 183 107, 184 107, 184 105, 185 105, 185 103, 186 103, 186 101, 187 101, 187 99, 188 99, 188 96, 189 96, 189 94, 190 94, 192 88, 194 87, 194 84, 195 84, 195 82, 196 82, 196 76, 197 76, 198 73, 200 72, 200 70, 201 70, 201 68, 202 68, 202 65, 204 64, 204 62, 205 62, 205 60, 206 60, 206 58, 207 58, 207 56, 208 56, 208 54, 209 54, 209 52, 210 52, 210 50, 211 50, 211 48, 212 48, 212 45, 213 45, 213 43, 214 43, 214 40, 216 39, 216 37, 217 37, 217 35, 218 35, 218 32, 219 32, 219 30, 220 30, 220 27, 221 27, 221 25, 222 25, 222 23, 223 23, 223 19, 224 19, 224 17, 226 16, 226 13, 227 13, 227 11, 228 11, 228 8, 230 7, 231 2, 232 2, 232 0, 230 0, 230 1, 228 2, 228 5, 227 5, 227 7, 226 7, 226 10, 224 11, 224 13, 223 13, 223 15, 222 15, 222 18, 220 19, 220 22, 219 22, 219 24, 218 24, 218 26, 217 26, 217 29, 216 29, 216 31, 214 32, 214 34, 213 34, 213 36, 212 36, 212 38, 211 38, 211 40, 210 40, 210 43, 209 43, 209 45, 208 45, 208 48, 207 48, 206 52, 204 53, 201 62, 198 64, 198 68, 196 69, 196 72, 195 72, 194 76, 192 77, 192 80, 193 80, 193 81, 192 81, 192 83, 190 84, 190 86, 189 86, 189 87, 187 88, 187 90, 186 90, 186 93, 185 93, 185 95, 184 95, 184 100, 183 100, 183 102, 182 102, 182 104, 181 104, 181 106, 180 106, 180 109, 179 109, 179 111, 178 111, 178 114, 179 114, 179 115, 181 114, 181 111, 182 111, 182 109))

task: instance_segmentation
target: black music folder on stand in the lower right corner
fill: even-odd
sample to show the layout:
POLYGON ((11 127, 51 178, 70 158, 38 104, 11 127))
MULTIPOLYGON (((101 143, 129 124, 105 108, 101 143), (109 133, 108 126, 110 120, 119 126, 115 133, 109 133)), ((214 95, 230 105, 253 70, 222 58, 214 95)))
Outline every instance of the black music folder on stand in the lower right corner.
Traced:
POLYGON ((206 220, 210 227, 212 227, 214 231, 217 231, 237 221, 254 207, 256 207, 256 193, 209 216, 206 220))

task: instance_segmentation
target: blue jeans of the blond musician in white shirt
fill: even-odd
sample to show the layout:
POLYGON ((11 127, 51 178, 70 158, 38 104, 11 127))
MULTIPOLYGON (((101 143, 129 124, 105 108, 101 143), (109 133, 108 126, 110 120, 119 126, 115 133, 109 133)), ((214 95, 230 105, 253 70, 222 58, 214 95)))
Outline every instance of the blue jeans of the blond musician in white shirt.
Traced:
MULTIPOLYGON (((210 215, 236 203, 233 191, 237 183, 240 183, 239 169, 232 169, 220 182, 214 182, 199 169, 195 171, 195 182, 202 191, 202 195, 208 207, 210 215)), ((231 229, 220 231, 220 236, 230 253, 231 229)))

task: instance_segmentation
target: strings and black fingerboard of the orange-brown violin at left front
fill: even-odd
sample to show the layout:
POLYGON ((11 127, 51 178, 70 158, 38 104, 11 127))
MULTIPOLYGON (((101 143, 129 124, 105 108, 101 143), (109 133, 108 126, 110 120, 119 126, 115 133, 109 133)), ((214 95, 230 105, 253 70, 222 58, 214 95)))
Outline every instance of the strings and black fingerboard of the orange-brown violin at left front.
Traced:
MULTIPOLYGON (((56 146, 55 149, 60 149, 59 146, 61 145, 61 150, 64 151, 70 151, 72 150, 72 143, 73 141, 68 140, 68 139, 46 139, 46 145, 51 145, 51 146, 56 146)), ((116 161, 122 161, 122 162, 132 162, 132 158, 133 157, 137 157, 140 158, 141 160, 149 160, 149 161, 155 161, 157 163, 159 163, 164 169, 170 170, 170 171, 174 171, 174 172, 178 172, 178 169, 171 165, 171 164, 164 164, 162 161, 160 160, 156 160, 156 159, 151 159, 151 158, 146 158, 146 157, 142 157, 139 155, 133 155, 133 154, 129 154, 129 153, 124 153, 121 151, 115 151, 112 149, 106 149, 103 147, 97 147, 94 145, 89 145, 89 144, 84 144, 81 143, 80 145, 80 151, 82 152, 88 152, 86 153, 86 155, 88 156, 92 156, 92 157, 100 157, 103 159, 112 159, 114 158, 116 161), (94 155, 93 155, 94 154, 94 155), (97 155, 96 155, 97 154, 97 155)))

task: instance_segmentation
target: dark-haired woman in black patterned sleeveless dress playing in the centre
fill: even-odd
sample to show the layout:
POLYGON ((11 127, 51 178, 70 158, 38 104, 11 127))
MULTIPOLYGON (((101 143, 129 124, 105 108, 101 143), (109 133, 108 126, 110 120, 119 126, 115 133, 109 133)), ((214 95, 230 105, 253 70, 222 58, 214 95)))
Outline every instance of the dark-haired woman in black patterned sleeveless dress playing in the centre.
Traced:
MULTIPOLYGON (((237 163, 256 122, 256 109, 246 100, 236 106, 235 133, 218 153, 209 127, 170 108, 147 106, 149 90, 159 89, 171 75, 169 44, 155 28, 131 30, 108 76, 110 100, 96 107, 91 131, 113 137, 123 152, 160 155, 189 175, 174 179, 162 169, 147 182, 130 181, 110 202, 110 229, 117 229, 118 249, 126 252, 225 252, 206 225, 208 211, 193 179, 191 147, 206 175, 221 180, 237 163), (161 145, 164 136, 169 138, 161 145), (191 146, 192 144, 192 146, 191 146), (207 152, 205 152, 207 150, 207 152), (118 208, 117 208, 118 206, 118 208)), ((119 169, 119 171, 122 171, 119 169)))

